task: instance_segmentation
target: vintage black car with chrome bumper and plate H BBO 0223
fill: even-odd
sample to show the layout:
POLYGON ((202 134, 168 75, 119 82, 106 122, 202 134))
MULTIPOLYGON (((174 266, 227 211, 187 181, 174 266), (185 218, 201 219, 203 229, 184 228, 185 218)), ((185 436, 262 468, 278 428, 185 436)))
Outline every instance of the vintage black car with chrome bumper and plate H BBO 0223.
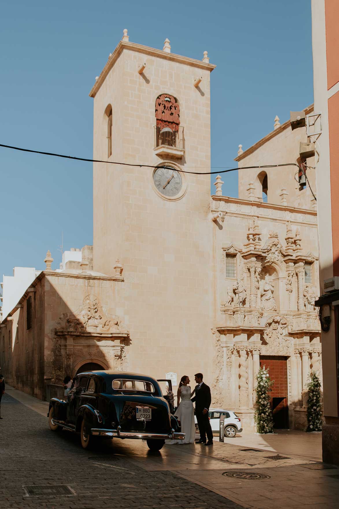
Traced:
POLYGON ((48 419, 52 431, 80 432, 84 449, 93 437, 144 439, 151 450, 185 437, 157 380, 135 373, 79 373, 66 401, 50 400, 48 419))

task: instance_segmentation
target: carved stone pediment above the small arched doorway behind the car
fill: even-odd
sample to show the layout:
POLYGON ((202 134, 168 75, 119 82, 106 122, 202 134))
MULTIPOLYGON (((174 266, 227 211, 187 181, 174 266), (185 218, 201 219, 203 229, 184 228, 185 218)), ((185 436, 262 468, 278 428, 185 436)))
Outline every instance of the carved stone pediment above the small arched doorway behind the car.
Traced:
POLYGON ((63 313, 56 322, 56 334, 128 337, 129 331, 116 315, 108 315, 98 297, 87 295, 74 313, 63 313))

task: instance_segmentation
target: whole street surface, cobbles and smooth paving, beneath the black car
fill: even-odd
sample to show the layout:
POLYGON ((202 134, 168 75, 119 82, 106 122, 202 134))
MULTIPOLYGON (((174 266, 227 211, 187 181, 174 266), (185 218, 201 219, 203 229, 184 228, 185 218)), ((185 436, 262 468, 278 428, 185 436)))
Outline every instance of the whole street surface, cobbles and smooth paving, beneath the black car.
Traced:
MULTIPOLYGON (((5 393, 2 509, 337 507, 339 470, 297 450, 283 457, 283 448, 279 455, 215 441, 213 448, 175 445, 151 453, 142 441, 116 440, 87 451, 78 435, 49 430, 47 407, 19 391, 5 393)), ((277 438, 283 447, 284 437, 277 438)))

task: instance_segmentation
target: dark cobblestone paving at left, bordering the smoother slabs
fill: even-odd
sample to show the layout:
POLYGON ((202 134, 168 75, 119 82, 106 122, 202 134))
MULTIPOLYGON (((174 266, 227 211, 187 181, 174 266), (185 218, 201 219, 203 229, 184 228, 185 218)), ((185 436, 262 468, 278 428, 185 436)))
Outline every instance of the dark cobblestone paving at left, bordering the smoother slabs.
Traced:
MULTIPOLYGON (((2 400, 2 411, 2 509, 241 507, 171 471, 148 471, 122 455, 115 456, 112 441, 99 442, 95 451, 83 450, 78 435, 51 432, 46 417, 7 393, 2 400), (61 485, 67 485, 71 494, 61 495, 62 488, 56 488, 61 485), (31 486, 39 488, 34 492, 31 486), (35 496, 28 496, 34 493, 35 496)), ((152 457, 152 453, 147 454, 152 457)))

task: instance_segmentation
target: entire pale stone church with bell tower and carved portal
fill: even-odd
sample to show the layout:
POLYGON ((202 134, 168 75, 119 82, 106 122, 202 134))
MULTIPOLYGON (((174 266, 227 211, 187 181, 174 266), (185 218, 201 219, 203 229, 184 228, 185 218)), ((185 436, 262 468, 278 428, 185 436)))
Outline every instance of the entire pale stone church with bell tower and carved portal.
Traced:
MULTIPOLYGON (((307 376, 321 374, 317 215, 295 167, 239 171, 239 198, 223 195, 218 176, 211 196, 210 175, 199 173, 210 168, 214 68, 206 51, 189 59, 167 39, 158 50, 124 31, 90 93, 93 158, 107 160, 93 168, 93 251, 58 270, 47 253, 3 317, 9 383, 44 399, 47 385, 90 367, 171 376, 175 386, 203 372, 213 406, 252 429, 265 364, 276 425, 304 429, 307 376)), ((250 158, 271 151, 271 163, 296 162, 298 148, 283 124, 237 160, 257 165, 250 158), (287 148, 277 154, 279 139, 287 148)))

